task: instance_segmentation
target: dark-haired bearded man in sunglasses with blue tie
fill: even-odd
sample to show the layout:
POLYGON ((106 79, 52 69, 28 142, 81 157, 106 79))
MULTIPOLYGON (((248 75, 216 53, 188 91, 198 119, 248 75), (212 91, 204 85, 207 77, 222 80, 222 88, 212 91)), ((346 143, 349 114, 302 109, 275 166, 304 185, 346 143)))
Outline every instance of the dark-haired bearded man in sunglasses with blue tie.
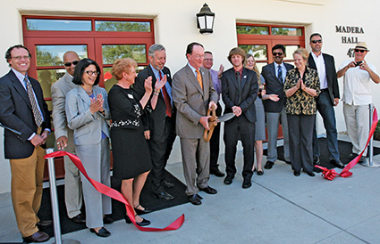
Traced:
POLYGON ((289 152, 288 120, 284 110, 286 97, 283 92, 286 72, 294 66, 283 62, 285 47, 281 44, 272 47, 274 62, 263 67, 261 75, 266 79, 266 94, 276 94, 280 98, 274 102, 270 99, 264 101, 266 110, 266 128, 268 131, 268 156, 264 168, 271 169, 274 161, 277 160, 277 136, 278 126, 281 121, 283 126, 283 150, 286 163, 291 164, 289 152))

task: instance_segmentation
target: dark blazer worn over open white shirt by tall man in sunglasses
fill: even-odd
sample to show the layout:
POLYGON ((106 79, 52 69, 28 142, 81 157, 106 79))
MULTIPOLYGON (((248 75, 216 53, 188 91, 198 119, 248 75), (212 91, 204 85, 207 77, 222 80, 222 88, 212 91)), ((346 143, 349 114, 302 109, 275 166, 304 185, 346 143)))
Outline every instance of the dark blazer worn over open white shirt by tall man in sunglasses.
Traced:
MULTIPOLYGON (((336 76, 335 61, 332 55, 326 53, 322 53, 322 55, 324 56, 325 60, 325 73, 327 77, 328 94, 330 95, 331 103, 334 105, 334 98, 341 98, 339 95, 339 85, 338 77, 336 76)), ((317 70, 316 62, 314 61, 311 53, 308 55, 308 67, 317 70)))

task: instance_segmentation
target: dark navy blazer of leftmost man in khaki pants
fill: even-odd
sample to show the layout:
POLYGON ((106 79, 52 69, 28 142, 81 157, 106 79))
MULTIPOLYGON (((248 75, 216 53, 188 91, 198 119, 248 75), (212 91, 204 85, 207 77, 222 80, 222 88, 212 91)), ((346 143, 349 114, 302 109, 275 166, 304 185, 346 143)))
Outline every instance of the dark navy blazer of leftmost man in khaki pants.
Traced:
MULTIPOLYGON (((29 77, 36 94, 39 108, 45 122, 42 127, 50 129, 50 113, 42 94, 39 82, 29 77)), ((21 132, 21 135, 4 129, 5 159, 25 159, 33 153, 34 145, 28 141, 31 134, 36 133, 38 126, 33 117, 28 93, 12 69, 0 78, 0 123, 21 132)))

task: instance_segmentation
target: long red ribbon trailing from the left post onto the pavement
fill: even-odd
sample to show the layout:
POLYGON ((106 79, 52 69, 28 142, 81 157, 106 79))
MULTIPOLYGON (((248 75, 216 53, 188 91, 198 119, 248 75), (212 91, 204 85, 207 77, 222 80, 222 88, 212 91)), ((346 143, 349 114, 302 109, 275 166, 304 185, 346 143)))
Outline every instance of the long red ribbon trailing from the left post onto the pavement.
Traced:
POLYGON ((76 156, 70 152, 60 150, 60 151, 55 151, 55 152, 46 154, 44 158, 50 159, 50 158, 61 157, 61 156, 69 156, 69 158, 72 159, 72 162, 74 163, 74 165, 79 168, 80 172, 89 180, 89 183, 91 183, 95 187, 95 189, 97 189, 97 191, 99 191, 102 194, 105 194, 106 196, 108 196, 112 199, 116 199, 116 200, 122 202, 123 204, 125 204, 125 208, 127 209, 127 214, 130 217, 131 222, 140 231, 142 231, 142 232, 175 231, 178 228, 180 228, 182 226, 183 222, 185 221, 185 215, 182 215, 179 218, 177 218, 172 224, 169 224, 168 226, 166 226, 164 229, 139 226, 138 224, 136 224, 134 211, 133 211, 133 208, 131 207, 131 204, 127 201, 127 199, 124 198, 122 193, 106 186, 103 183, 98 183, 97 181, 91 179, 89 177, 89 175, 87 175, 87 172, 86 172, 85 168, 83 167, 83 165, 80 161, 80 158, 78 158, 78 156, 76 156))

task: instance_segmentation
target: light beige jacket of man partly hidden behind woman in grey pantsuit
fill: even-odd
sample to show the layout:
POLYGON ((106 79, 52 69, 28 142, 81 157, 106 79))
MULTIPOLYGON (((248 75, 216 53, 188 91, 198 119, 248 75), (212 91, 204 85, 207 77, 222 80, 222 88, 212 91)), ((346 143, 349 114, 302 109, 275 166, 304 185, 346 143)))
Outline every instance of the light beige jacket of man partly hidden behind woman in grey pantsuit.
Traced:
MULTIPOLYGON (((66 136, 68 147, 73 147, 72 130, 67 127, 67 119, 65 112, 66 94, 73 88, 77 87, 72 83, 72 77, 68 73, 64 74, 62 78, 57 80, 52 85, 52 103, 53 103, 53 124, 55 126, 55 140, 61 136, 66 136)), ((69 150, 70 151, 70 150, 69 150)))

